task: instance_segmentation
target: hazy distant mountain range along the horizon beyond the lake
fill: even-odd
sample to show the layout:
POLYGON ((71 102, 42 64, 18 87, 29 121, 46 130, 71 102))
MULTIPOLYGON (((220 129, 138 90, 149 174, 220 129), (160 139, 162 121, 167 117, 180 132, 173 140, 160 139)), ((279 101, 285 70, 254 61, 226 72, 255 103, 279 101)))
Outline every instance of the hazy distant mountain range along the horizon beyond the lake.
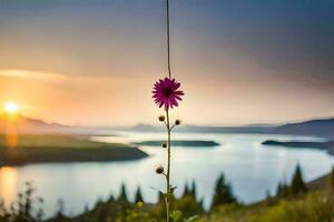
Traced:
MULTIPOLYGON (((0 133, 6 132, 7 117, 0 115, 0 133)), ((137 124, 122 128, 85 128, 70 127, 57 123, 47 123, 41 120, 18 117, 16 120, 19 133, 80 133, 80 134, 114 134, 115 131, 161 132, 164 125, 137 124)), ((334 118, 310 120, 305 122, 287 124, 250 124, 242 127, 205 127, 205 125, 180 125, 175 129, 178 132, 197 133, 261 133, 261 134, 295 134, 316 135, 334 139, 334 118)))

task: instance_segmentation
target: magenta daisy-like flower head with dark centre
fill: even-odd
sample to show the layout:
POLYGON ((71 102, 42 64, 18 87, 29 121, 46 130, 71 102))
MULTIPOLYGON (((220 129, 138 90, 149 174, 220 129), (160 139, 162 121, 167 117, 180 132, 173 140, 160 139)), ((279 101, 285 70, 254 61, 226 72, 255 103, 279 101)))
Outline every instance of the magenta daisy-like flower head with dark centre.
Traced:
POLYGON ((180 97, 185 94, 183 91, 178 90, 179 87, 179 82, 167 77, 164 80, 156 82, 153 91, 153 98, 157 105, 159 105, 159 108, 164 105, 165 110, 178 107, 178 100, 181 101, 180 97))

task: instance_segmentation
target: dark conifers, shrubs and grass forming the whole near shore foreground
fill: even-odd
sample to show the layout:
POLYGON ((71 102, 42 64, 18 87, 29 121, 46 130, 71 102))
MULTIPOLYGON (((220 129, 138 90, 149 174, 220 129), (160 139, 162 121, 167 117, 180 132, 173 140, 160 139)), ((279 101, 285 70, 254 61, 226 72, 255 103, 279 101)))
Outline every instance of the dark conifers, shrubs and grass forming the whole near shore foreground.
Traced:
MULTIPOLYGON (((160 222, 165 220, 164 201, 145 203, 138 188, 135 202, 128 201, 126 188, 121 186, 118 198, 99 201, 91 210, 76 216, 63 214, 63 203, 59 203, 57 215, 42 220, 42 200, 33 198, 33 189, 19 195, 19 201, 8 210, 0 204, 0 222, 160 222)), ((334 169, 332 173, 315 182, 305 184, 302 170, 296 168, 289 184, 279 183, 277 193, 250 205, 237 202, 232 188, 222 174, 216 182, 213 205, 209 212, 203 201, 196 199, 196 184, 187 185, 180 198, 173 198, 174 222, 333 222, 334 220, 334 169)))

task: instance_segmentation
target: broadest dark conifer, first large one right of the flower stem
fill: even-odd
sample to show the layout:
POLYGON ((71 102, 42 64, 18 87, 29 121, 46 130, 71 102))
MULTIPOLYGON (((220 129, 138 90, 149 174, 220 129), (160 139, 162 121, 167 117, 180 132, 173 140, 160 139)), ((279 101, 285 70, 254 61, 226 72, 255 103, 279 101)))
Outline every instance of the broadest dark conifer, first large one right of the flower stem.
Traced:
POLYGON ((217 205, 236 202, 237 200, 233 194, 232 188, 228 183, 225 182, 224 174, 222 173, 216 182, 212 209, 217 205))

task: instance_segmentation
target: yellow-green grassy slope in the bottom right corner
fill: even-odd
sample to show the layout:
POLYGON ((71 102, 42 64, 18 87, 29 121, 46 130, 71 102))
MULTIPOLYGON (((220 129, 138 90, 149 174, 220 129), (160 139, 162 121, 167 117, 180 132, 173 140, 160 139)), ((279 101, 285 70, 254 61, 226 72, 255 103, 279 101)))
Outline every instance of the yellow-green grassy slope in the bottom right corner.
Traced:
POLYGON ((250 205, 222 205, 199 222, 333 222, 334 170, 307 183, 307 189, 306 194, 268 196, 250 205))

